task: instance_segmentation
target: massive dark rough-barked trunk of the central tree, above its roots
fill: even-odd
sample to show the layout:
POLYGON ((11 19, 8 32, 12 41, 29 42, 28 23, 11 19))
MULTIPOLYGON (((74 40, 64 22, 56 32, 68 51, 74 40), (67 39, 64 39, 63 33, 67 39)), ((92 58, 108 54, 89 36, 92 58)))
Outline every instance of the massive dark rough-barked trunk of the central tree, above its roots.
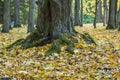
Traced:
POLYGON ((72 0, 38 0, 38 6, 37 29, 44 37, 73 32, 72 0))

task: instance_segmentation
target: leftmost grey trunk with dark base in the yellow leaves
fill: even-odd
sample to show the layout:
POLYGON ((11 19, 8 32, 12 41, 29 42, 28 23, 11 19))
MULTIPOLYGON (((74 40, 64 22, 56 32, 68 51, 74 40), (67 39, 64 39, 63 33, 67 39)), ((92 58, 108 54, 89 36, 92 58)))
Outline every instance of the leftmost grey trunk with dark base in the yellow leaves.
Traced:
POLYGON ((2 32, 8 33, 10 29, 10 0, 4 0, 4 15, 2 32))

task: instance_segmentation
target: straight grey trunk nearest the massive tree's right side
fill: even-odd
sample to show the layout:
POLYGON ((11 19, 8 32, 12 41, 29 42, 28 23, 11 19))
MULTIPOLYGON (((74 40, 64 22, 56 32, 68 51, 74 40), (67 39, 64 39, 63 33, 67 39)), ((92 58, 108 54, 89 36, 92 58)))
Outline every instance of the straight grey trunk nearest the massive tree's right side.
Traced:
POLYGON ((75 26, 80 26, 80 0, 75 0, 75 26))

